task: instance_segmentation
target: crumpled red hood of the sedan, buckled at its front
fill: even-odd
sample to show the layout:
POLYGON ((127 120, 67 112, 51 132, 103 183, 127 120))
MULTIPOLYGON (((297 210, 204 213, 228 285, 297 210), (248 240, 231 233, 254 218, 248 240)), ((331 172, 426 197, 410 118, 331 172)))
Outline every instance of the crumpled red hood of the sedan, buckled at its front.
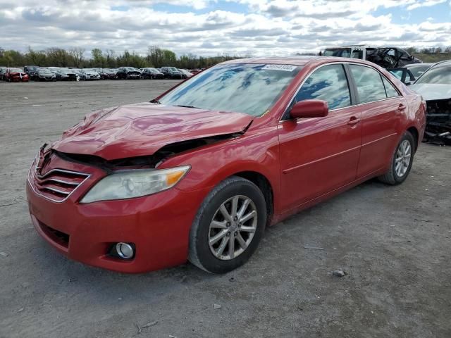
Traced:
POLYGON ((51 148, 106 160, 148 156, 166 144, 243 132, 244 113, 142 103, 96 111, 63 133, 51 148))

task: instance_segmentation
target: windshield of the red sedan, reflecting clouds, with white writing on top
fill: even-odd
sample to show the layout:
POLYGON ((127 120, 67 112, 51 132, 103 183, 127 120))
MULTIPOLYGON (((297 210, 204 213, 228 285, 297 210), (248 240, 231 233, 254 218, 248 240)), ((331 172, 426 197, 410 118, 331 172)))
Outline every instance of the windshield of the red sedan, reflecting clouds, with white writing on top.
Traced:
POLYGON ((180 84, 160 102, 260 116, 276 103, 301 68, 275 64, 217 65, 180 84))

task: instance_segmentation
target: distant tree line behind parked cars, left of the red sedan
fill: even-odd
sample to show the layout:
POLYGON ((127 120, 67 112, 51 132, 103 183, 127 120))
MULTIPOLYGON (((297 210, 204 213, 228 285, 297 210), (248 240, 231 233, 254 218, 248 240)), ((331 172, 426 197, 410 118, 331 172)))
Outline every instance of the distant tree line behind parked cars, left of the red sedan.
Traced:
POLYGON ((196 56, 194 54, 176 54, 169 49, 161 49, 158 46, 149 46, 147 54, 142 56, 135 52, 124 51, 117 54, 113 49, 102 51, 95 48, 91 51, 91 57, 85 56, 86 50, 80 47, 63 49, 51 47, 37 51, 29 47, 25 53, 15 50, 6 50, 0 47, 0 65, 11 67, 23 67, 24 65, 39 65, 41 67, 77 67, 77 68, 116 68, 130 66, 135 68, 173 66, 177 68, 206 68, 216 63, 235 58, 250 57, 222 54, 218 56, 196 56))

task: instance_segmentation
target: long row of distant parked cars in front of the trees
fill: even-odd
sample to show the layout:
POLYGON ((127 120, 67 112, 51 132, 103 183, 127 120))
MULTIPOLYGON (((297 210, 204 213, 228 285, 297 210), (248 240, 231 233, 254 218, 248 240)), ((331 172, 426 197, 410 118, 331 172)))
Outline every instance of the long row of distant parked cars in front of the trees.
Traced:
POLYGON ((79 80, 132 80, 132 79, 186 79, 200 69, 162 68, 61 68, 25 65, 24 68, 1 67, 0 80, 8 82, 79 81, 79 80))

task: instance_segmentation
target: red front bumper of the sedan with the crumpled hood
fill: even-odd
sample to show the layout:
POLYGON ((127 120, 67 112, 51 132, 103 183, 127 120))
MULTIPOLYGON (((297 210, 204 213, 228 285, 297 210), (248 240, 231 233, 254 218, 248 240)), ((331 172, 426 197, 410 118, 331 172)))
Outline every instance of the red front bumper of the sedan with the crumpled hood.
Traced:
POLYGON ((173 187, 132 199, 80 203, 105 175, 97 165, 60 156, 35 160, 27 177, 27 202, 41 237, 68 258, 122 273, 185 263, 190 227, 208 189, 173 187), (133 244, 132 259, 112 254, 118 242, 133 244))

